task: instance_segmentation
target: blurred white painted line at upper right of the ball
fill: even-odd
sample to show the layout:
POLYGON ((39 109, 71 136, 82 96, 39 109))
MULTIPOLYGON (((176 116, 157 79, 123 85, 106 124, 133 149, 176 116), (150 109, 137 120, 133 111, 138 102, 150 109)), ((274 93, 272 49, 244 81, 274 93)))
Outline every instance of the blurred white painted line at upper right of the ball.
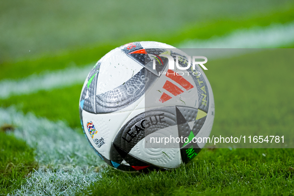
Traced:
POLYGON ((294 43, 294 21, 238 29, 227 36, 186 40, 177 48, 277 48, 294 43))

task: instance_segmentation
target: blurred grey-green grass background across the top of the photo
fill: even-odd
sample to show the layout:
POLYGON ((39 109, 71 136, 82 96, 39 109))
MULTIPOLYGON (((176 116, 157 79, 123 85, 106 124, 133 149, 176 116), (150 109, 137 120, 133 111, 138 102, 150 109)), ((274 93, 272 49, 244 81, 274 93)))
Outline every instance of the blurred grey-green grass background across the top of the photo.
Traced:
MULTIPOLYGON (((228 19, 238 22, 292 6, 291 0, 1 1, 0 61, 138 41, 131 40, 133 37, 168 40, 167 36, 185 33, 187 28, 196 27, 193 31, 197 31, 203 24, 228 19)), ((274 22, 275 18, 272 19, 274 22)), ((230 29, 223 22, 213 32, 202 32, 205 36, 198 38, 209 38, 225 30, 230 29)), ((194 37, 179 36, 173 41, 187 38, 194 37)))

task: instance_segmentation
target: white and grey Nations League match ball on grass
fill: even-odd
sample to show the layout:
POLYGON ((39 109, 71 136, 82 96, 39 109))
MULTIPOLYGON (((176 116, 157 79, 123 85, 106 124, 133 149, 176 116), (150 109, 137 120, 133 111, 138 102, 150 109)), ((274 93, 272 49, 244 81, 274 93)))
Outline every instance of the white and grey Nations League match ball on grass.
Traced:
POLYGON ((214 119, 212 89, 199 65, 153 41, 103 56, 86 78, 79 108, 98 156, 129 172, 188 163, 204 147, 199 138, 209 137, 214 119))

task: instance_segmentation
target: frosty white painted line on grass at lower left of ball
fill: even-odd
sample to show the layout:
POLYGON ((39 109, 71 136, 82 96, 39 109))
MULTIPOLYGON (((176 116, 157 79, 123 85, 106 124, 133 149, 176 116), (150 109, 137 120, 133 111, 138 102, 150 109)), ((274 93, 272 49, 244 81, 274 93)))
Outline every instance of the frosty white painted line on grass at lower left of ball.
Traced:
POLYGON ((16 126, 13 134, 35 148, 39 170, 13 195, 74 195, 99 180, 95 167, 105 164, 82 134, 64 122, 52 122, 13 107, 0 108, 0 125, 16 126), (57 171, 57 172, 53 172, 57 171))

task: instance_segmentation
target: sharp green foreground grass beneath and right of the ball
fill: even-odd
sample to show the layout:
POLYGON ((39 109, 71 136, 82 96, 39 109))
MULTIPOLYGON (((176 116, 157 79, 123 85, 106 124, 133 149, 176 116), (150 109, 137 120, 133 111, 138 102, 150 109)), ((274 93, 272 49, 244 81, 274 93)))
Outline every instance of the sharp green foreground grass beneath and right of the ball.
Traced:
POLYGON ((292 196, 293 156, 293 149, 204 149, 191 164, 171 171, 139 175, 106 171, 89 192, 99 196, 292 196))

